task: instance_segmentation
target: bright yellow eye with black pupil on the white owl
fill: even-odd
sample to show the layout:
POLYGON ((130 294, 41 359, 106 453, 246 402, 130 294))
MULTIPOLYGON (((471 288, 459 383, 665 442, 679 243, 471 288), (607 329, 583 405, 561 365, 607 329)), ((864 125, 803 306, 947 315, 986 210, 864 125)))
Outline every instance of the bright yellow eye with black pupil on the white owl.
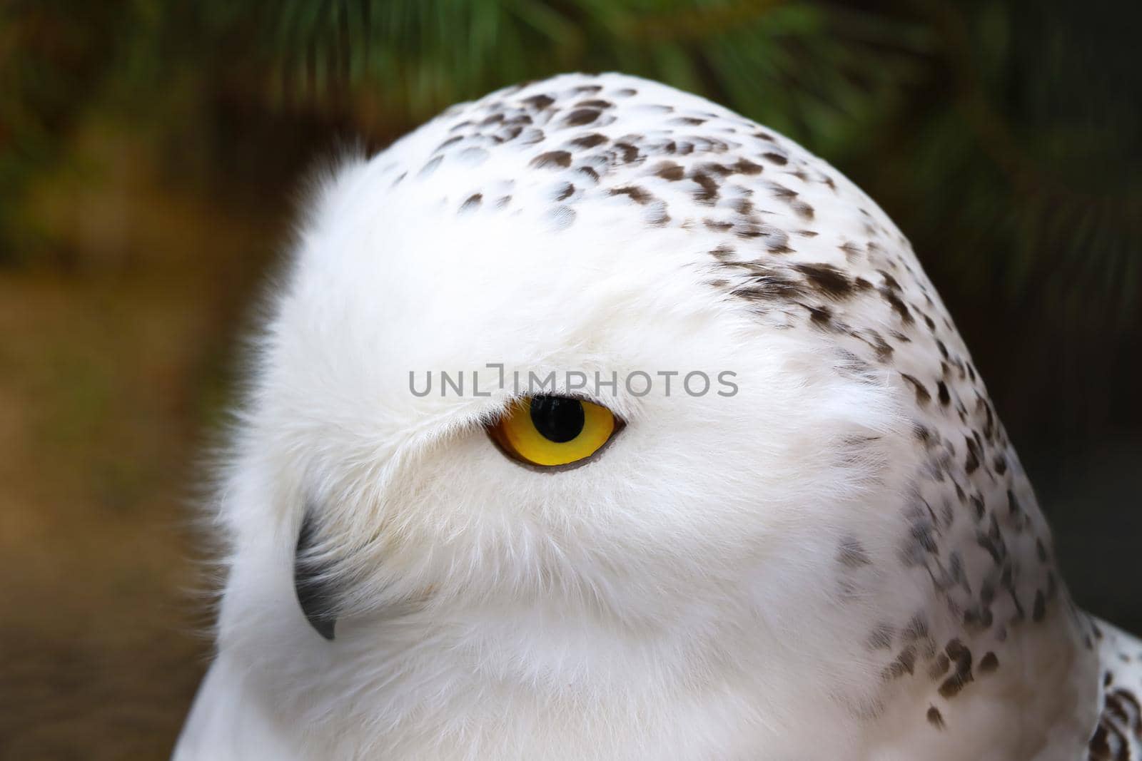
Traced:
POLYGON ((568 396, 515 402, 489 432, 505 452, 533 465, 565 465, 598 452, 618 427, 606 407, 568 396))

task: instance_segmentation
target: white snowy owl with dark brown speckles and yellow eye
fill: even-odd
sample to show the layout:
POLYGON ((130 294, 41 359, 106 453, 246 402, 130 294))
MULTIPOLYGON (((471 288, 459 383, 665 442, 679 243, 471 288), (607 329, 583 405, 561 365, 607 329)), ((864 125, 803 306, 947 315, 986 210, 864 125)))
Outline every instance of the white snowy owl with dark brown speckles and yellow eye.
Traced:
POLYGON ((1142 642, 1071 602, 908 241, 791 140, 504 89, 331 172, 280 285, 177 761, 1142 758, 1142 642))

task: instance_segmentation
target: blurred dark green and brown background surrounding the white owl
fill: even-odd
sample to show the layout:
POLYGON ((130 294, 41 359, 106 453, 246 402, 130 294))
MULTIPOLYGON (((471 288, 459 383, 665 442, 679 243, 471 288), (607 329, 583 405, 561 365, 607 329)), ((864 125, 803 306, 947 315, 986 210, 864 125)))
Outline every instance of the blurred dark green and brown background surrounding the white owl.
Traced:
POLYGON ((1080 605, 1142 631, 1142 66, 1105 0, 0 2, 0 759, 164 758, 204 446, 307 171, 621 70, 783 131, 911 238, 1080 605))

